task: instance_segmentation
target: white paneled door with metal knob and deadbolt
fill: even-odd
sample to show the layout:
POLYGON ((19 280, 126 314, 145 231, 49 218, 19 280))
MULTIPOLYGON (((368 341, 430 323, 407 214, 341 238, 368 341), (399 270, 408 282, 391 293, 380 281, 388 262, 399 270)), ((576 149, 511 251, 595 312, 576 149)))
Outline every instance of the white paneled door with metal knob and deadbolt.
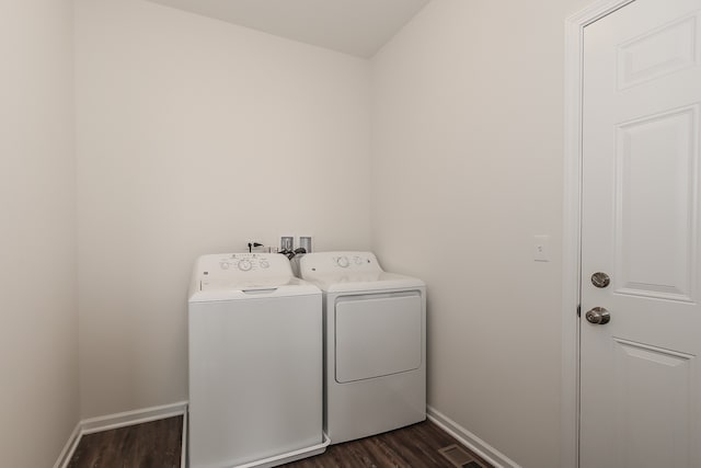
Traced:
POLYGON ((701 467, 700 61, 701 0, 585 27, 582 468, 701 467))

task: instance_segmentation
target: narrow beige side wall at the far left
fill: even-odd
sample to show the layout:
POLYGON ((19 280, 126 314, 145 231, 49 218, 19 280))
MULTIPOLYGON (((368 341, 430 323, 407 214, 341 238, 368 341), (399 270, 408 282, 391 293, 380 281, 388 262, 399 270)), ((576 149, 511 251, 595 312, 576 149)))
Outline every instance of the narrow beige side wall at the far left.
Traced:
POLYGON ((72 2, 2 2, 0 57, 0 464, 50 467, 78 423, 72 2))

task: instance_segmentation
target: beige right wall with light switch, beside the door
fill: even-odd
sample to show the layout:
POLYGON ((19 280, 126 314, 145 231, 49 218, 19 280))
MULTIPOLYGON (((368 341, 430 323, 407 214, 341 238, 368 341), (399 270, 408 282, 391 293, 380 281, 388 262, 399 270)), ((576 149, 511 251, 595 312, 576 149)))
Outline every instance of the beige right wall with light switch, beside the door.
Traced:
POLYGON ((434 1, 372 59, 372 247, 428 283, 429 404, 524 467, 560 461, 563 33, 587 3, 434 1))

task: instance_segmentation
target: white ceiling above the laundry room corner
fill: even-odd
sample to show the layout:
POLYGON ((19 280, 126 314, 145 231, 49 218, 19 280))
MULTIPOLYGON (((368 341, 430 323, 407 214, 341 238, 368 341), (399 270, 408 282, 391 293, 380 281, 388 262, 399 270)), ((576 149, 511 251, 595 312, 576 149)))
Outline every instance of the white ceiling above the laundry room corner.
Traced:
POLYGON ((369 58, 432 0, 149 0, 369 58))

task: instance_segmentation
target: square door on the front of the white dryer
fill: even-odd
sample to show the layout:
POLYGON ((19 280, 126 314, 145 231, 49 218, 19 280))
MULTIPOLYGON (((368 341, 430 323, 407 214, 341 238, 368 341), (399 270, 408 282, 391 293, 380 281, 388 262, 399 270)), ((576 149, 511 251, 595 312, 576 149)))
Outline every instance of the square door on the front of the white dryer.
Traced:
POLYGON ((344 384, 418 368, 422 305, 418 292, 336 299, 336 381, 344 384))

